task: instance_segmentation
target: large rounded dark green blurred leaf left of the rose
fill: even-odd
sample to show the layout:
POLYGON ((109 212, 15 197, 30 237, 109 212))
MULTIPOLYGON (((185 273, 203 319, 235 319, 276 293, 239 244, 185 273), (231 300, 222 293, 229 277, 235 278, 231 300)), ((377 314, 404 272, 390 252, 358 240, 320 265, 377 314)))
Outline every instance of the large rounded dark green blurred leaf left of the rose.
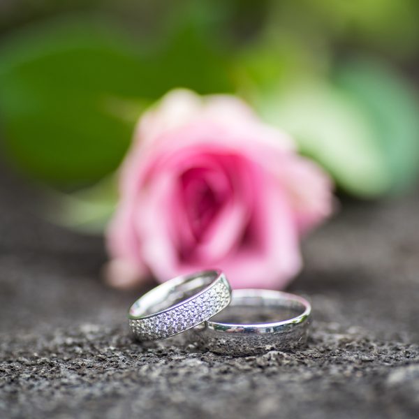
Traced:
POLYGON ((144 107, 141 69, 121 34, 95 22, 54 22, 8 39, 0 51, 6 150, 53 184, 100 179, 118 166, 144 107))

